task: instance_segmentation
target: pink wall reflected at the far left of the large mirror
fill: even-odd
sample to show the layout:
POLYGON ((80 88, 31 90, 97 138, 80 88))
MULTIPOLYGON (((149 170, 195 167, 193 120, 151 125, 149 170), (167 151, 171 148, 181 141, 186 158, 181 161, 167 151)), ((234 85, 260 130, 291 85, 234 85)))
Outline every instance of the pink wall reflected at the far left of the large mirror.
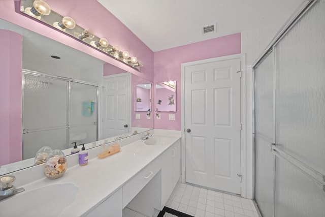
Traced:
POLYGON ((20 34, 0 29, 0 165, 22 160, 21 45, 20 34))

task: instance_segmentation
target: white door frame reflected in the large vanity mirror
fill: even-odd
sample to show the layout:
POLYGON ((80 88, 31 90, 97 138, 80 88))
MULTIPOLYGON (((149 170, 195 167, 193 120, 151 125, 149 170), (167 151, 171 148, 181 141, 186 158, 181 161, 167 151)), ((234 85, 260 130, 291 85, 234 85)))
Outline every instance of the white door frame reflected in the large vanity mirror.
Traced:
MULTIPOLYGON (((104 96, 104 89, 103 88, 105 88, 105 86, 104 86, 104 79, 108 79, 108 78, 116 78, 116 77, 122 77, 122 76, 128 76, 128 80, 129 80, 129 97, 130 97, 130 100, 128 101, 128 107, 129 107, 129 110, 128 110, 128 122, 129 122, 129 129, 131 129, 132 128, 132 99, 131 99, 131 96, 132 96, 132 81, 131 81, 131 79, 132 79, 132 76, 131 76, 131 73, 129 73, 129 72, 125 72, 125 73, 119 73, 119 74, 113 74, 113 75, 105 75, 105 76, 103 76, 102 77, 102 85, 101 85, 101 87, 102 88, 100 88, 100 94, 99 94, 99 99, 100 99, 100 101, 101 101, 101 104, 102 104, 102 106, 101 106, 101 108, 100 108, 100 111, 99 111, 99 114, 100 114, 100 117, 99 117, 99 122, 100 122, 100 125, 99 125, 99 127, 100 127, 100 139, 103 137, 103 117, 104 117, 104 114, 103 114, 103 112, 104 112, 104 103, 103 103, 103 101, 102 100, 104 100, 103 99, 103 96, 104 96)), ((102 139, 104 139, 104 138, 102 138, 102 139)))

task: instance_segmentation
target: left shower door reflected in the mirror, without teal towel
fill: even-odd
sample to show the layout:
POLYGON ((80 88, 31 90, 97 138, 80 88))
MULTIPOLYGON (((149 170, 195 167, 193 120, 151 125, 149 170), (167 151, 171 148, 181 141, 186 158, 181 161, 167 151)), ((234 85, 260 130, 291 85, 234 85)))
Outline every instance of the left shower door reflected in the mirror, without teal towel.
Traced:
POLYGON ((66 81, 24 73, 23 160, 43 146, 67 148, 66 81))

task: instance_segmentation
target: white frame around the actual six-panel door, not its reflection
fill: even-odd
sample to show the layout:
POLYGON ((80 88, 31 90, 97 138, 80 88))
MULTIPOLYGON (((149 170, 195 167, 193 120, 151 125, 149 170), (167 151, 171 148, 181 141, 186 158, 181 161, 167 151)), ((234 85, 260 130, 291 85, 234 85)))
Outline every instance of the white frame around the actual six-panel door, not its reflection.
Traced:
POLYGON ((215 61, 240 58, 241 80, 240 80, 240 121, 242 123, 241 140, 241 196, 246 198, 247 195, 247 147, 246 147, 246 53, 221 56, 197 61, 191 61, 181 64, 181 171, 182 182, 185 183, 185 67, 212 63, 215 61))

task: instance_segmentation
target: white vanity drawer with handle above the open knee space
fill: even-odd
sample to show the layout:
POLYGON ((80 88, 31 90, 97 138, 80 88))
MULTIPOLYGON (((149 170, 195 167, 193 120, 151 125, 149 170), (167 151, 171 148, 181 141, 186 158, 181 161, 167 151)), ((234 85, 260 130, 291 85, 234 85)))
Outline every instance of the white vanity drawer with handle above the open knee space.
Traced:
POLYGON ((161 156, 151 162, 135 177, 122 187, 123 208, 145 187, 153 176, 161 169, 161 156))

